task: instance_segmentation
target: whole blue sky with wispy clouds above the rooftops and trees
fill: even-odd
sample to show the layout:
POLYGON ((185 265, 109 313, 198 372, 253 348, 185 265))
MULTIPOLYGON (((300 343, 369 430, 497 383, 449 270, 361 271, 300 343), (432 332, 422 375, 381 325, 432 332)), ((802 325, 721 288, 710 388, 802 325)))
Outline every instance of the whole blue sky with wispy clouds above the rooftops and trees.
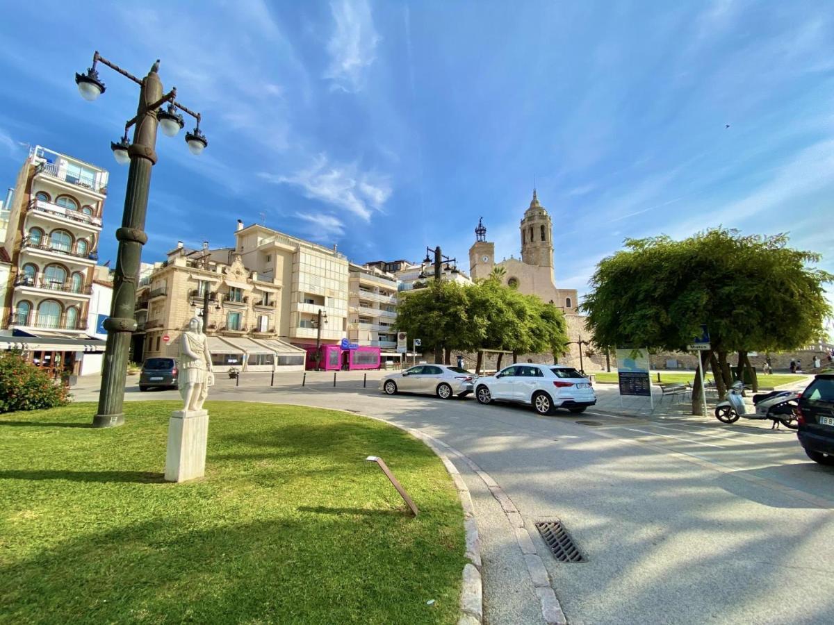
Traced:
POLYGON ((723 224, 830 253, 832 20, 731 0, 22 3, 0 23, 0 176, 22 143, 109 168, 114 257, 109 142, 137 92, 102 67, 103 97, 78 96, 98 49, 138 75, 161 58, 203 113, 202 156, 158 139, 148 261, 229 245, 240 218, 360 263, 440 245, 468 268, 480 216, 498 258, 519 254, 534 177, 557 283, 580 292, 626 237, 723 224))

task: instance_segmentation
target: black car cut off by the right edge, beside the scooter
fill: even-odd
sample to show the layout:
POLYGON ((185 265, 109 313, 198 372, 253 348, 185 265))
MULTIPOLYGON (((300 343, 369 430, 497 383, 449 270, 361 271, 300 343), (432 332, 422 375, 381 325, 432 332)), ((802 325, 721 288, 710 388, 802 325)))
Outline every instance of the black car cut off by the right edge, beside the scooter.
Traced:
POLYGON ((834 373, 817 375, 802 393, 796 436, 808 458, 834 467, 834 373))

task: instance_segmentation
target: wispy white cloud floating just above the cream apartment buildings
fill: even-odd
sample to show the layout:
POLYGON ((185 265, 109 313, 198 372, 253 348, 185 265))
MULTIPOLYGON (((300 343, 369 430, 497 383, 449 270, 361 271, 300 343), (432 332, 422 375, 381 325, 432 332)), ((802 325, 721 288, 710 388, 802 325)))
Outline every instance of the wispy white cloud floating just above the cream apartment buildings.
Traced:
POLYGON ((314 158, 309 168, 291 176, 262 172, 259 177, 271 183, 299 187, 305 197, 344 208, 366 222, 391 195, 387 179, 360 172, 356 163, 331 165, 324 154, 314 158))

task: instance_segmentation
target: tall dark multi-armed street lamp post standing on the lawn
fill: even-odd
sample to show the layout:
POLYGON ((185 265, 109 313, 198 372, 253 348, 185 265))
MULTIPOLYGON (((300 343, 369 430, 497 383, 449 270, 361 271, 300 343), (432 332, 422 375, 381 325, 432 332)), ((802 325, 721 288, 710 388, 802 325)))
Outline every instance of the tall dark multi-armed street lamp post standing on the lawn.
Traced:
POLYGON ((197 120, 191 133, 185 135, 188 150, 193 154, 203 152, 208 145, 200 132, 200 114, 183 107, 176 101, 177 90, 163 93, 162 81, 158 76, 159 61, 153 63, 148 75, 139 79, 113 62, 93 54, 93 66, 87 72, 75 75, 78 92, 85 100, 94 100, 104 90, 104 83, 98 78, 97 63, 128 77, 139 85, 139 103, 136 117, 124 126, 124 135, 119 143, 111 143, 113 158, 117 163, 130 163, 128 186, 124 196, 122 227, 116 230, 118 252, 113 276, 113 303, 110 316, 104 321, 107 343, 104 348, 104 365, 101 393, 98 397, 98 413, 93 418, 93 427, 110 428, 124 423, 124 387, 127 378, 128 349, 130 338, 136 329, 134 308, 136 307, 136 281, 142 246, 148 241, 144 232, 145 216, 148 211, 148 190, 151 183, 151 168, 157 162, 157 127, 173 137, 183 128, 183 117, 177 109, 188 113, 197 120), (160 107, 168 103, 168 109, 160 107), (128 143, 128 129, 133 130, 133 143, 128 143))

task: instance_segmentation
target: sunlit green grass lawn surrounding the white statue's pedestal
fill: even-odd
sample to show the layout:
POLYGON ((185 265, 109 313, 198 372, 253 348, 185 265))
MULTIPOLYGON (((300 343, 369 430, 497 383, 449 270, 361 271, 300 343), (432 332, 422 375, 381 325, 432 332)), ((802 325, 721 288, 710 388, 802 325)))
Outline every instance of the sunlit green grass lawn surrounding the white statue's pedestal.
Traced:
POLYGON ((175 408, 128 402, 103 430, 91 403, 0 415, 0 622, 457 621, 463 514, 423 443, 345 413, 209 402, 206 477, 172 484, 175 408))

